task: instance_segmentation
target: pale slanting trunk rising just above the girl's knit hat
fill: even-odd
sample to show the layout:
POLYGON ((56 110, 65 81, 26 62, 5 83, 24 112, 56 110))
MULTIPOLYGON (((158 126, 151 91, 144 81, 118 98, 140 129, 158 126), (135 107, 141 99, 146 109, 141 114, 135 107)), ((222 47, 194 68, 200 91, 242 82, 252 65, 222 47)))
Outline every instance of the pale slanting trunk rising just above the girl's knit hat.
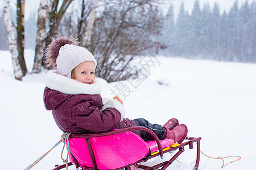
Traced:
POLYGON ((91 41, 91 38, 92 38, 92 28, 93 28, 93 24, 94 24, 94 21, 95 21, 95 15, 96 15, 96 7, 98 5, 98 2, 100 0, 95 0, 94 1, 94 5, 92 7, 92 10, 90 11, 90 14, 89 14, 89 22, 85 28, 85 41, 82 41, 82 45, 85 46, 85 48, 88 48, 89 45, 90 45, 90 41, 91 41))

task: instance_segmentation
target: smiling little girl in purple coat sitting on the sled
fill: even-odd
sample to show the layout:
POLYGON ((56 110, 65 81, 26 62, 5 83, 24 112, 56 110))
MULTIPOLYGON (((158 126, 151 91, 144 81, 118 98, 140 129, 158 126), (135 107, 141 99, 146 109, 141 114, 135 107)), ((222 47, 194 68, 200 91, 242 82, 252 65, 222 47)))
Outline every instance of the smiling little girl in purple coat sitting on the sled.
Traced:
MULTIPOLYGON (((44 89, 44 105, 51 110, 57 126, 64 132, 100 133, 131 126, 143 126, 159 139, 171 138, 181 143, 187 137, 187 126, 176 118, 164 126, 150 124, 144 118, 130 120, 118 97, 102 103, 101 85, 95 76, 96 59, 77 39, 57 37, 47 47, 46 62, 56 70, 49 70, 44 89)), ((144 131, 139 135, 153 139, 144 131)))

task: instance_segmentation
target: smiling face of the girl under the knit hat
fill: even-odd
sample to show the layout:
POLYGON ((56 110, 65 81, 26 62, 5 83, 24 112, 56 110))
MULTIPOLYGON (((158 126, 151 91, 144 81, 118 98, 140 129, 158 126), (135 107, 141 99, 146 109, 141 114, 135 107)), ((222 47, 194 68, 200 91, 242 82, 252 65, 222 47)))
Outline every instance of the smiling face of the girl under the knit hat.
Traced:
POLYGON ((95 79, 95 64, 92 61, 85 61, 80 63, 72 70, 72 78, 86 84, 94 83, 95 79))

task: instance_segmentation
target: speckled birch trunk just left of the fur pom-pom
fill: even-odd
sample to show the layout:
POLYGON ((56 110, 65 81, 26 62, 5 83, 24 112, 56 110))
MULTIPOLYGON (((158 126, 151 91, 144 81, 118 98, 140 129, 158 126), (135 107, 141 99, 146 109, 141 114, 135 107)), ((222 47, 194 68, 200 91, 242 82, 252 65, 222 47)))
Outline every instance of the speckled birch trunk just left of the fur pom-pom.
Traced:
POLYGON ((35 59, 32 73, 40 73, 46 39, 47 0, 41 0, 38 10, 38 33, 36 36, 35 59))

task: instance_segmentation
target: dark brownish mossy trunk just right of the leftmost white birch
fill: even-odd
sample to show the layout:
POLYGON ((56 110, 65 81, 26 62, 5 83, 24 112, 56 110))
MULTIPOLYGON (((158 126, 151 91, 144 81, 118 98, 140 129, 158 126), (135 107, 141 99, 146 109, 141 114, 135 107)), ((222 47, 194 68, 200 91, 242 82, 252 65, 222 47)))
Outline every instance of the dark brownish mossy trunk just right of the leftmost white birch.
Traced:
POLYGON ((17 0, 17 47, 18 61, 22 69, 23 76, 27 74, 27 66, 24 59, 24 5, 25 0, 17 0))

